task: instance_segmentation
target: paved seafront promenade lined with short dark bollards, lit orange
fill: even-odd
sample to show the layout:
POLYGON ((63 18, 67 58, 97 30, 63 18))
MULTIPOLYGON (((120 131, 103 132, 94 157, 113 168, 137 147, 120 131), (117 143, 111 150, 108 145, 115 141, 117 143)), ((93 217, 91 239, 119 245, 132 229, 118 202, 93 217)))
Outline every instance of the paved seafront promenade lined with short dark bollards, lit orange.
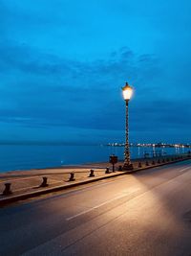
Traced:
POLYGON ((191 158, 190 153, 166 155, 155 158, 132 160, 132 171, 121 171, 122 161, 113 167, 108 162, 78 166, 61 166, 58 168, 30 171, 12 171, 0 174, 0 206, 22 199, 61 191, 78 185, 110 178, 118 175, 133 174, 138 171, 157 168, 191 158))

